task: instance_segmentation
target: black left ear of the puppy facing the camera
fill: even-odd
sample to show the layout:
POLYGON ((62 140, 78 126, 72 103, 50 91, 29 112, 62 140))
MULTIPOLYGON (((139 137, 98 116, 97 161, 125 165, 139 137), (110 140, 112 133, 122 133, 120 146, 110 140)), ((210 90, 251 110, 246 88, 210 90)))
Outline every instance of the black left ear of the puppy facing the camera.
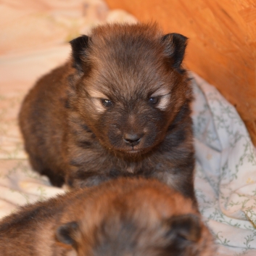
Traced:
POLYGON ((86 49, 88 49, 88 36, 79 36, 70 41, 72 48, 73 67, 78 71, 83 71, 83 59, 86 57, 86 49))

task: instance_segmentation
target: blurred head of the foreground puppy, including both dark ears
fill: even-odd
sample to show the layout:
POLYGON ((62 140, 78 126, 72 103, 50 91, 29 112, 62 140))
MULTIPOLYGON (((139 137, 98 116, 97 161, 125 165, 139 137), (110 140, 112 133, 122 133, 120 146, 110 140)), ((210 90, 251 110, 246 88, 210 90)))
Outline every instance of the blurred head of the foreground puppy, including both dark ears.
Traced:
POLYGON ((210 256, 210 232, 176 191, 159 181, 111 181, 86 202, 83 220, 57 229, 78 256, 210 256))

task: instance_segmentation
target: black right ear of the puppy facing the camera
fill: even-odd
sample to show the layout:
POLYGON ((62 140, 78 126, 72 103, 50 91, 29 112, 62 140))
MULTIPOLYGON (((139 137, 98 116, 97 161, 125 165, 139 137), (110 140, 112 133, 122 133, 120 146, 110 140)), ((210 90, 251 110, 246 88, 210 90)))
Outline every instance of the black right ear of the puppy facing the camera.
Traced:
POLYGON ((170 33, 162 37, 162 41, 165 44, 165 53, 170 58, 172 66, 178 71, 181 71, 180 67, 185 54, 187 40, 186 36, 178 33, 170 33))

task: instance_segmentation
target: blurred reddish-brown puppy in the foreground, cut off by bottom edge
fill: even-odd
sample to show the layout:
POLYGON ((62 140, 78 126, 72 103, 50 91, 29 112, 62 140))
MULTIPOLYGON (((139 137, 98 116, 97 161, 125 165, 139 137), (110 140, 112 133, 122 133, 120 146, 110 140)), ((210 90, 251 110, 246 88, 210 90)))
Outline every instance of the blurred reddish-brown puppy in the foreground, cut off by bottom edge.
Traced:
POLYGON ((4 256, 210 256, 192 200, 157 180, 119 178, 22 207, 0 222, 4 256))

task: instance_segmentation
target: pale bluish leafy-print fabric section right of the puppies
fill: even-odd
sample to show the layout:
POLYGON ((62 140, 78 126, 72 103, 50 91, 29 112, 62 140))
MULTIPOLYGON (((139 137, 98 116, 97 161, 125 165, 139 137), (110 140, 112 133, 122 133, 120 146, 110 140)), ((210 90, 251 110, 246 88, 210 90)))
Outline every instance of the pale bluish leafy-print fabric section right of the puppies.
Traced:
POLYGON ((256 154, 236 109, 194 75, 196 192, 220 255, 256 255, 256 154), (253 249, 253 250, 251 250, 253 249))

